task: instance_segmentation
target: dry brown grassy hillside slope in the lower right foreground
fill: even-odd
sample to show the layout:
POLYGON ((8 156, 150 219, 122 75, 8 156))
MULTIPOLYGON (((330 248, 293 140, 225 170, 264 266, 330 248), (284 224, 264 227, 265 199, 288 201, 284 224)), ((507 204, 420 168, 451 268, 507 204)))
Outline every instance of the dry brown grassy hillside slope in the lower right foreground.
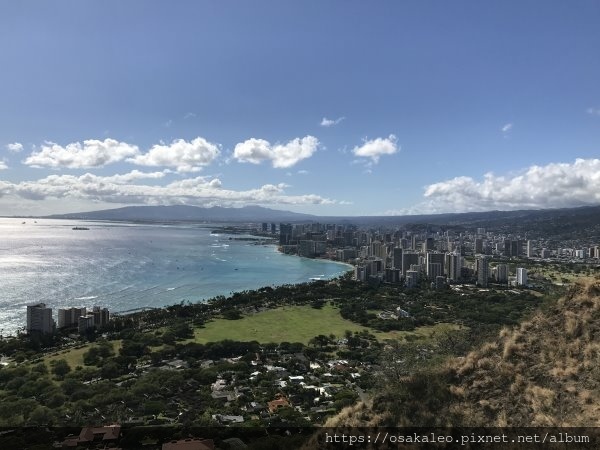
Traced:
POLYGON ((386 383, 329 426, 600 426, 600 281, 466 357, 386 383))

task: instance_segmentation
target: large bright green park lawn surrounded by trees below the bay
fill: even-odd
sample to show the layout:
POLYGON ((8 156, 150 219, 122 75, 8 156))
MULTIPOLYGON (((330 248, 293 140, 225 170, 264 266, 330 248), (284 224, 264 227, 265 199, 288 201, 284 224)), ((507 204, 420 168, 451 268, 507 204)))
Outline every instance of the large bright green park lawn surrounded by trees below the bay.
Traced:
POLYGON ((302 342, 324 334, 344 336, 346 330, 352 332, 369 331, 378 340, 399 339, 408 334, 429 338, 432 332, 442 329, 458 329, 458 325, 438 324, 421 327, 414 332, 392 331, 380 332, 363 327, 340 316, 339 309, 326 304, 321 309, 311 306, 284 306, 256 314, 244 316, 239 320, 215 319, 203 328, 194 330, 194 341, 198 343, 218 342, 225 339, 234 341, 268 342, 302 342))

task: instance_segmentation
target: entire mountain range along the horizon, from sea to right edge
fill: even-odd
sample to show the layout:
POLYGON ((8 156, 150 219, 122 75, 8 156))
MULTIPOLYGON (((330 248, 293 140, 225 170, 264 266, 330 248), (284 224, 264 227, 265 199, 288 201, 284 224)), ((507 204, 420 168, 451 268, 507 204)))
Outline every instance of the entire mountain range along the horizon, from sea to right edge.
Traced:
POLYGON ((356 224, 362 226, 399 226, 431 231, 484 227, 507 233, 533 232, 539 236, 583 238, 599 236, 600 206, 578 208, 485 211, 451 214, 424 214, 412 216, 315 216, 281 211, 262 206, 242 208, 201 208, 197 206, 127 206, 102 211, 89 211, 48 216, 53 219, 110 220, 144 222, 321 222, 356 224))

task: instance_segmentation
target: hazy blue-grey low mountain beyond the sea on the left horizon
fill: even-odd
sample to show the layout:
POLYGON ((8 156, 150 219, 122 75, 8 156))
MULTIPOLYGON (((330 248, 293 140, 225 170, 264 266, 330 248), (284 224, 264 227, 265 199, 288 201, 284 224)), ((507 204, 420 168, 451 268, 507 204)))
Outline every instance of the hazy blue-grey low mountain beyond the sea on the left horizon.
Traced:
POLYGON ((126 206, 102 211, 88 211, 48 216, 52 219, 116 221, 190 221, 190 222, 298 222, 317 220, 317 216, 279 211, 262 206, 243 208, 201 208, 197 206, 126 206))

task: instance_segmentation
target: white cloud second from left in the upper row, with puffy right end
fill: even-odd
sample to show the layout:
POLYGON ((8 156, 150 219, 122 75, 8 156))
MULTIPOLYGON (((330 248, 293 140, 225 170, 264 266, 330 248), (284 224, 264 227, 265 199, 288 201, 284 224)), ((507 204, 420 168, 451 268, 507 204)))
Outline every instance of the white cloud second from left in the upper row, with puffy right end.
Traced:
POLYGON ((178 172, 198 172, 211 164, 219 155, 217 144, 202 137, 187 142, 176 139, 171 144, 158 144, 148 153, 136 155, 127 161, 140 166, 174 167, 178 172))

